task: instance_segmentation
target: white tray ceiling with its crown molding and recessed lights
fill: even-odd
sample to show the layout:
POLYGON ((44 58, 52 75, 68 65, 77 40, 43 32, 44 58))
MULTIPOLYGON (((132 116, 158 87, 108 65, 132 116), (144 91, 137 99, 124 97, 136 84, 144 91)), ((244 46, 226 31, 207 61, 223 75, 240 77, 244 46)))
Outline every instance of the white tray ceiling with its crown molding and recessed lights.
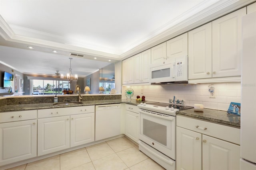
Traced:
POLYGON ((251 1, 0 0, 0 62, 66 73, 77 53, 84 57, 73 57, 72 71, 83 77, 251 1))

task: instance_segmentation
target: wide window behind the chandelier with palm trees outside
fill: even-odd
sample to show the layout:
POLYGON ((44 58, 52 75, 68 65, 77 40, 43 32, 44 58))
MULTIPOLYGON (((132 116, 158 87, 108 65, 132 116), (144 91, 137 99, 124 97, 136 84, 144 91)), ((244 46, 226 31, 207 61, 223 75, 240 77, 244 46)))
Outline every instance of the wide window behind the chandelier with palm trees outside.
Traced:
POLYGON ((31 80, 33 84, 33 95, 63 94, 68 90, 70 84, 63 80, 31 80))

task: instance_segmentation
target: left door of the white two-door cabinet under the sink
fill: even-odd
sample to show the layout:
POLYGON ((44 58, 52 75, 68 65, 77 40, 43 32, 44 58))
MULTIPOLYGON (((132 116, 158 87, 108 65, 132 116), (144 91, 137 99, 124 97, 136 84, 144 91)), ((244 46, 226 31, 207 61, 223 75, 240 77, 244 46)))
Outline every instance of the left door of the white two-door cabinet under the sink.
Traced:
POLYGON ((70 147, 70 116, 38 119, 38 156, 70 147))

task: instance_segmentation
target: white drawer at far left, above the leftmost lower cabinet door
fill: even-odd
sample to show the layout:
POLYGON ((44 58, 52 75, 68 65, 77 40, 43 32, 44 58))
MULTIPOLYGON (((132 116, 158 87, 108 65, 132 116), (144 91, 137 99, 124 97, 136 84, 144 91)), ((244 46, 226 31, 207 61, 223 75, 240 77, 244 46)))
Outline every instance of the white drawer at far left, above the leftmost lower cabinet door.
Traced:
POLYGON ((0 123, 36 119, 36 113, 36 110, 2 112, 0 123))

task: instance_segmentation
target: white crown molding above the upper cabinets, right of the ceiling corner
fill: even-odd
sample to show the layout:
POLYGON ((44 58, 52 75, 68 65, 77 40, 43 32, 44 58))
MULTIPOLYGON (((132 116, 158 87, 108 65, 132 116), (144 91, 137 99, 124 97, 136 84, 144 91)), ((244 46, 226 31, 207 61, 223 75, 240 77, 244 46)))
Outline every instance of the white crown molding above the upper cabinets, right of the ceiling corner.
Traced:
MULTIPOLYGON (((184 19, 183 21, 177 23, 176 25, 173 25, 166 31, 163 31, 146 41, 143 41, 143 39, 139 40, 143 43, 140 43, 139 45, 126 51, 125 53, 120 55, 120 58, 124 60, 128 57, 136 55, 142 51, 145 51, 151 47, 154 47, 160 43, 163 43, 164 41, 168 41, 169 39, 172 39, 185 32, 188 32, 205 23, 208 23, 230 12, 238 10, 239 8, 242 8, 248 4, 251 4, 252 2, 255 2, 255 0, 225 0, 225 1, 220 0, 212 4, 208 8, 198 11, 193 16, 184 19)), ((147 39, 147 38, 144 37, 144 39, 147 39)))

